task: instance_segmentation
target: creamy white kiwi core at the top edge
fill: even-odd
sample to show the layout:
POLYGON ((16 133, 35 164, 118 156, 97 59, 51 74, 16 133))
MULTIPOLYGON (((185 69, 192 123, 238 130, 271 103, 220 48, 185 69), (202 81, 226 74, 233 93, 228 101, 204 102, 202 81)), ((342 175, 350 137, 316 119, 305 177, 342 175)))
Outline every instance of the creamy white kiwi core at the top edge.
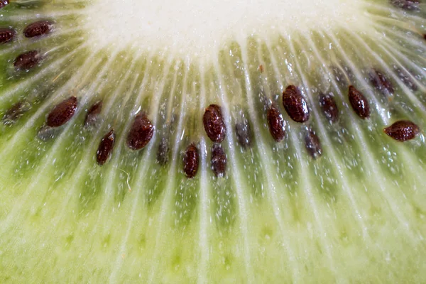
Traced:
POLYGON ((364 29, 364 1, 92 0, 84 26, 93 46, 172 50, 197 55, 229 39, 294 31, 364 29))

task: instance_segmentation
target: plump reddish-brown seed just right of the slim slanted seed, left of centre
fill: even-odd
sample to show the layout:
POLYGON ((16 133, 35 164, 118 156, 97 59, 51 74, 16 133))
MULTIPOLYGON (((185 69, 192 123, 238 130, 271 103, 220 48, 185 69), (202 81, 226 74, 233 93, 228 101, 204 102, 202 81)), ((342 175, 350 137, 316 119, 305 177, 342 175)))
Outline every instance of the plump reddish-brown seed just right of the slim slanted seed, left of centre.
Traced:
POLYGON ((154 135, 154 126, 146 114, 138 114, 127 136, 127 146, 132 150, 145 147, 154 135))

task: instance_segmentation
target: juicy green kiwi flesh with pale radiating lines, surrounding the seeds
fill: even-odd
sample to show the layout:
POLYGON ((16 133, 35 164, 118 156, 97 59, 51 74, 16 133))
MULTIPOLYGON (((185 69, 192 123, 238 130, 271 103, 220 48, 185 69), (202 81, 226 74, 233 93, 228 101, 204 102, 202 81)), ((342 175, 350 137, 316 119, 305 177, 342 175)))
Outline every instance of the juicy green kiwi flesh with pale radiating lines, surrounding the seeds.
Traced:
MULTIPOLYGON (((34 12, 62 11, 58 3, 27 8, 6 6, 0 26, 21 31, 34 12)), ((1 45, 0 116, 22 99, 31 108, 0 125, 0 283, 425 283, 424 136, 399 143, 383 133, 398 119, 426 129, 425 40, 404 28, 409 22, 425 33, 425 14, 386 1, 370 9, 374 28, 387 35, 381 40, 344 29, 268 43, 253 37, 224 45, 213 63, 131 48, 93 53, 84 31, 70 28, 77 16, 53 18, 58 28, 39 40, 1 45), (16 74, 13 59, 34 48, 51 52, 16 74), (332 65, 352 70, 370 119, 350 108, 332 65), (417 91, 393 66, 413 72, 417 91), (391 99, 370 84, 371 67, 391 78, 391 99), (283 109, 288 84, 304 88, 307 124, 283 109), (319 92, 334 94, 335 124, 319 92), (40 141, 45 117, 71 95, 80 101, 75 116, 40 141), (287 121, 281 143, 268 131, 263 96, 287 121), (84 129, 100 99, 102 120, 84 129), (226 178, 210 169, 212 141, 202 125, 209 104, 224 109, 226 178), (126 135, 138 109, 156 131, 146 148, 130 151, 126 135), (246 150, 234 132, 243 116, 254 133, 246 150), (305 149, 306 126, 320 137, 320 158, 305 149), (111 128, 116 144, 100 167, 95 153, 111 128), (164 133, 170 159, 162 166, 156 151, 164 133), (182 171, 190 143, 200 149, 192 180, 182 171)))

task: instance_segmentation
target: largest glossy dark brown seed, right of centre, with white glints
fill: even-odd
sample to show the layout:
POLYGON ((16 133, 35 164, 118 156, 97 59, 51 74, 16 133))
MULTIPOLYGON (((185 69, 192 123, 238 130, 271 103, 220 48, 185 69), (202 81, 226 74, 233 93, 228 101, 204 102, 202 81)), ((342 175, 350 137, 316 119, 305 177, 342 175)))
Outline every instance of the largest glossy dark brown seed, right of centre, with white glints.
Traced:
POLYGON ((293 84, 283 92, 283 106, 288 116, 296 122, 305 122, 309 119, 309 109, 300 89, 293 84))

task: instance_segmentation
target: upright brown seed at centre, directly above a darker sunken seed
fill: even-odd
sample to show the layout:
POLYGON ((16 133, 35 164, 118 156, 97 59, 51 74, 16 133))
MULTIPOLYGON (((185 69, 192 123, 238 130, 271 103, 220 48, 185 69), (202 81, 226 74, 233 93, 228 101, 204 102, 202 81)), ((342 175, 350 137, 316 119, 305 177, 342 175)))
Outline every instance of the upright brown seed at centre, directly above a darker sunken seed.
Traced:
POLYGON ((217 104, 210 104, 209 107, 205 109, 202 121, 210 140, 219 143, 224 141, 226 126, 222 116, 222 109, 217 104))

